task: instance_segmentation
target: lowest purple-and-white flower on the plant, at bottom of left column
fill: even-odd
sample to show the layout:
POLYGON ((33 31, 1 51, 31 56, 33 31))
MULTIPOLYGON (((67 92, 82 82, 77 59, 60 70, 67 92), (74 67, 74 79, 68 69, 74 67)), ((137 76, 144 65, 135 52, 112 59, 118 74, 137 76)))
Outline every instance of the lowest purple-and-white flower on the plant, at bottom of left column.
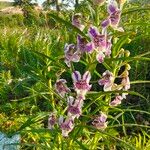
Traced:
POLYGON ((74 120, 72 118, 66 118, 64 121, 63 117, 59 118, 59 125, 62 130, 62 135, 64 137, 68 137, 68 134, 73 130, 74 128, 74 120))

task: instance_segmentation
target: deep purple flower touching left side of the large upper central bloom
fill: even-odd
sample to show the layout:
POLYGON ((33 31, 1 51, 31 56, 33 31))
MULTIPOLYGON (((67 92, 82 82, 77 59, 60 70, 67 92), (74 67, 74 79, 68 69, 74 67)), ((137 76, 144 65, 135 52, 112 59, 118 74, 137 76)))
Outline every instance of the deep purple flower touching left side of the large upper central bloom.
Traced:
POLYGON ((88 52, 91 53, 94 49, 94 44, 92 42, 88 42, 86 38, 81 37, 80 35, 77 36, 77 48, 81 52, 88 52))

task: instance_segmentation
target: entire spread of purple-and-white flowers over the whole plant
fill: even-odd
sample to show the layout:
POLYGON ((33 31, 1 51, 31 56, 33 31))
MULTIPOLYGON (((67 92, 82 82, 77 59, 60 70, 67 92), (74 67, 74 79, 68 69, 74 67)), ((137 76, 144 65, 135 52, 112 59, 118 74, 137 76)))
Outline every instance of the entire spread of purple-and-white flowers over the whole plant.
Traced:
MULTIPOLYGON (((98 3, 102 5, 105 0, 95 0, 93 4, 98 3)), ((118 4, 115 0, 108 0, 107 12, 109 16, 102 21, 101 23, 101 32, 99 28, 95 26, 90 26, 87 31, 87 37, 77 35, 76 44, 66 44, 64 48, 65 54, 65 63, 68 67, 71 67, 72 62, 79 62, 83 53, 88 53, 91 55, 93 60, 96 60, 98 63, 103 63, 105 57, 111 57, 112 51, 112 42, 109 34, 107 33, 107 28, 110 26, 114 30, 123 31, 123 28, 119 26, 121 8, 118 7, 118 4)), ((81 22, 82 15, 75 14, 72 17, 72 25, 78 28, 79 30, 85 30, 85 26, 81 22)), ((94 62, 95 63, 95 62, 94 62)), ((90 64, 89 64, 90 65, 90 64)), ((100 86, 103 86, 104 91, 116 91, 123 90, 127 91, 130 89, 130 80, 129 80, 129 70, 130 67, 126 64, 125 71, 118 76, 118 72, 112 69, 106 70, 102 74, 102 78, 99 79, 98 83, 100 86), (116 78, 121 78, 122 81, 120 84, 115 83, 116 78)), ((118 70, 119 71, 119 70, 118 70)), ((60 97, 66 99, 67 108, 66 114, 60 116, 59 119, 56 119, 55 114, 51 114, 48 120, 49 129, 53 129, 54 125, 58 123, 62 135, 67 137, 69 133, 73 130, 75 126, 75 119, 78 119, 82 115, 82 107, 84 100, 88 91, 90 91, 92 85, 90 85, 91 73, 86 71, 83 75, 79 71, 73 71, 72 80, 73 80, 73 89, 76 96, 72 96, 70 88, 67 87, 67 81, 65 79, 59 79, 55 83, 55 90, 60 95, 60 97)), ((120 93, 120 92, 119 92, 120 93)), ((127 93, 122 94, 116 93, 115 98, 109 101, 109 106, 117 106, 121 104, 121 101, 126 98, 127 93)), ((104 130, 107 127, 107 110, 105 112, 100 112, 98 116, 92 122, 92 125, 97 128, 104 130)))

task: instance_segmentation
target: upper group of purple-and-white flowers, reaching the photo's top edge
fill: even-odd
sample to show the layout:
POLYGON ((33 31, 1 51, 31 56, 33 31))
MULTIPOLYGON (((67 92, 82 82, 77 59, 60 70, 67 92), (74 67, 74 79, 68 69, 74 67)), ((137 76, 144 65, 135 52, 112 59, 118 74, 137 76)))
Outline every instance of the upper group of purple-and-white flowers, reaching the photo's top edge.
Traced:
MULTIPOLYGON (((103 4, 105 1, 94 1, 94 3, 103 4)), ((117 2, 114 0, 108 1, 107 11, 109 16, 101 24, 101 33, 95 26, 90 26, 88 29, 88 36, 91 41, 88 41, 85 37, 77 35, 77 44, 67 44, 65 46, 65 62, 70 67, 70 62, 78 62, 81 54, 84 52, 93 53, 96 52, 96 60, 99 63, 104 61, 105 57, 111 55, 111 37, 107 34, 107 27, 111 26, 113 29, 123 31, 122 27, 119 27, 121 9, 118 8, 117 2)), ((72 25, 84 30, 85 26, 81 23, 82 15, 77 13, 72 17, 72 25)))

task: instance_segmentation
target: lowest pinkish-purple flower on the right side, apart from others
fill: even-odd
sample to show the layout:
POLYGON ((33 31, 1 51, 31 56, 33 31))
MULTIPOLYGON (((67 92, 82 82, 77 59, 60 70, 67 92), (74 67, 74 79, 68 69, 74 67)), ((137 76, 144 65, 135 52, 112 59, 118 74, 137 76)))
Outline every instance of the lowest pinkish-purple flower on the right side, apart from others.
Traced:
POLYGON ((97 129, 104 130, 107 127, 107 115, 101 113, 100 116, 97 116, 94 121, 92 122, 93 126, 97 129))

